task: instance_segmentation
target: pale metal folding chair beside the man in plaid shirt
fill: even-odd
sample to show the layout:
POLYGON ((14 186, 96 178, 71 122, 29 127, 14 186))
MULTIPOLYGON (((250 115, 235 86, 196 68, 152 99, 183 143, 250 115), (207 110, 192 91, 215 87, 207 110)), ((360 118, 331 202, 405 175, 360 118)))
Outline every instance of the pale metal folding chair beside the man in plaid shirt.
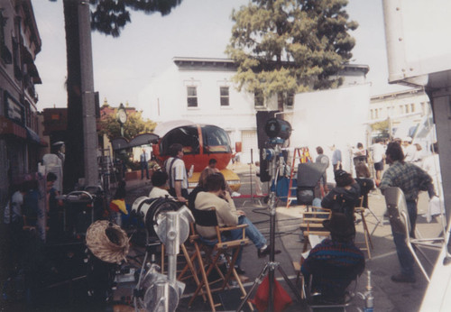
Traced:
POLYGON ((415 259, 415 262, 419 265, 419 269, 426 277, 426 280, 430 282, 428 273, 424 269, 422 263, 419 261, 419 257, 416 251, 420 252, 423 257, 427 260, 430 266, 434 267, 426 254, 419 247, 426 247, 434 250, 441 250, 443 243, 445 242, 444 237, 432 237, 432 238, 413 238, 410 237, 410 217, 409 211, 407 209, 406 198, 404 193, 400 188, 386 188, 383 192, 385 196, 385 203, 387 204, 387 210, 389 212, 390 224, 393 231, 404 233, 406 236, 407 246, 415 259), (414 248, 415 247, 415 248, 414 248))

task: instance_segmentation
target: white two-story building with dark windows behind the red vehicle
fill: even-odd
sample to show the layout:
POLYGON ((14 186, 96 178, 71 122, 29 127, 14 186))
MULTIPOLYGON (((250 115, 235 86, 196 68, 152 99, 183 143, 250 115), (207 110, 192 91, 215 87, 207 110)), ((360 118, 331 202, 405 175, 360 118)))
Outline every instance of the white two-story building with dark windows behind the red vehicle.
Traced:
MULTIPOLYGON (((232 146, 242 142, 242 162, 258 155, 257 111, 277 110, 276 99, 263 102, 244 90, 239 92, 233 76, 233 60, 179 58, 140 95, 140 106, 151 112, 151 119, 165 122, 188 119, 199 124, 215 124, 226 130, 232 146)), ((366 65, 345 65, 339 73, 343 86, 365 83, 366 65)), ((284 104, 284 110, 293 109, 293 97, 284 104)), ((258 156, 257 156, 258 157, 258 156)))

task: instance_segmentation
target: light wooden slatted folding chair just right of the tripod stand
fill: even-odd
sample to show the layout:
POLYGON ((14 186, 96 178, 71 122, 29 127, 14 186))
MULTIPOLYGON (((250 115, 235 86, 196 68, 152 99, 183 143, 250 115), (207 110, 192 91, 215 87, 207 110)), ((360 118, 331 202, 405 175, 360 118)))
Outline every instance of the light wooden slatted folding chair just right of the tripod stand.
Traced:
MULTIPOLYGON (((300 212, 302 215, 302 223, 299 225, 300 231, 304 236, 304 245, 302 248, 302 253, 307 252, 308 244, 313 248, 312 243, 310 242, 310 235, 316 235, 320 237, 328 237, 330 232, 323 226, 323 221, 330 219, 331 210, 322 207, 312 206, 311 211, 306 207, 305 211, 300 212)), ((315 237, 318 240, 317 237, 315 237)), ((293 262, 294 271, 297 272, 296 283, 299 282, 300 277, 300 267, 302 266, 302 262, 304 261, 304 257, 301 254, 299 262, 293 262)))

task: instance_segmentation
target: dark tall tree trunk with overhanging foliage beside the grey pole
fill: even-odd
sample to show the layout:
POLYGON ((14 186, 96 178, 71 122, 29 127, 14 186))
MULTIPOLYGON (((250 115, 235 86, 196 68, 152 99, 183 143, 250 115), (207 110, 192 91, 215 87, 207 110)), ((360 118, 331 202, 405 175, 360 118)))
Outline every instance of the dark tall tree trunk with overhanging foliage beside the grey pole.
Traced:
MULTIPOLYGON (((56 0, 51 0, 56 1, 56 0)), ((126 23, 130 23, 129 10, 143 11, 146 14, 160 12, 169 14, 171 9, 181 3, 181 0, 89 0, 91 5, 91 25, 92 30, 103 32, 106 35, 117 37, 126 23)), ((86 115, 84 115, 82 82, 86 83, 87 78, 82 75, 82 63, 87 64, 91 51, 80 50, 80 41, 86 41, 86 24, 80 22, 79 16, 85 12, 87 2, 82 0, 63 0, 64 23, 66 31, 66 50, 68 66, 68 127, 69 137, 66 142, 66 161, 64 163, 64 190, 70 191, 74 188, 79 178, 83 178, 84 172, 89 172, 85 168, 87 138, 84 135, 86 130, 86 115), (80 14, 81 13, 81 14, 80 14)), ((90 45, 90 39, 89 39, 90 45)), ((86 71, 84 72, 86 75, 86 71)), ((92 79, 92 73, 88 77, 92 79)), ((92 107, 89 107, 92 110, 92 107)), ((91 124, 90 124, 91 125, 91 124)), ((93 148, 97 148, 94 146, 93 148)), ((96 162, 97 163, 97 162, 96 162)))

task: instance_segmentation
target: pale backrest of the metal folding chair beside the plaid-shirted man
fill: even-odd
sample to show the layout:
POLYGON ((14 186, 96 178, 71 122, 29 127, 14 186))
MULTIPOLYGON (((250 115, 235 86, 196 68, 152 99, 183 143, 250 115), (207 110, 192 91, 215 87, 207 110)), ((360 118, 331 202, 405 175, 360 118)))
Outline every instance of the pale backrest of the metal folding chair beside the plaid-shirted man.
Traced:
POLYGON ((383 191, 385 204, 389 212, 390 223, 393 231, 401 234, 410 233, 409 211, 407 210, 406 197, 400 188, 385 188, 383 191), (406 217, 402 217, 402 215, 406 217))

